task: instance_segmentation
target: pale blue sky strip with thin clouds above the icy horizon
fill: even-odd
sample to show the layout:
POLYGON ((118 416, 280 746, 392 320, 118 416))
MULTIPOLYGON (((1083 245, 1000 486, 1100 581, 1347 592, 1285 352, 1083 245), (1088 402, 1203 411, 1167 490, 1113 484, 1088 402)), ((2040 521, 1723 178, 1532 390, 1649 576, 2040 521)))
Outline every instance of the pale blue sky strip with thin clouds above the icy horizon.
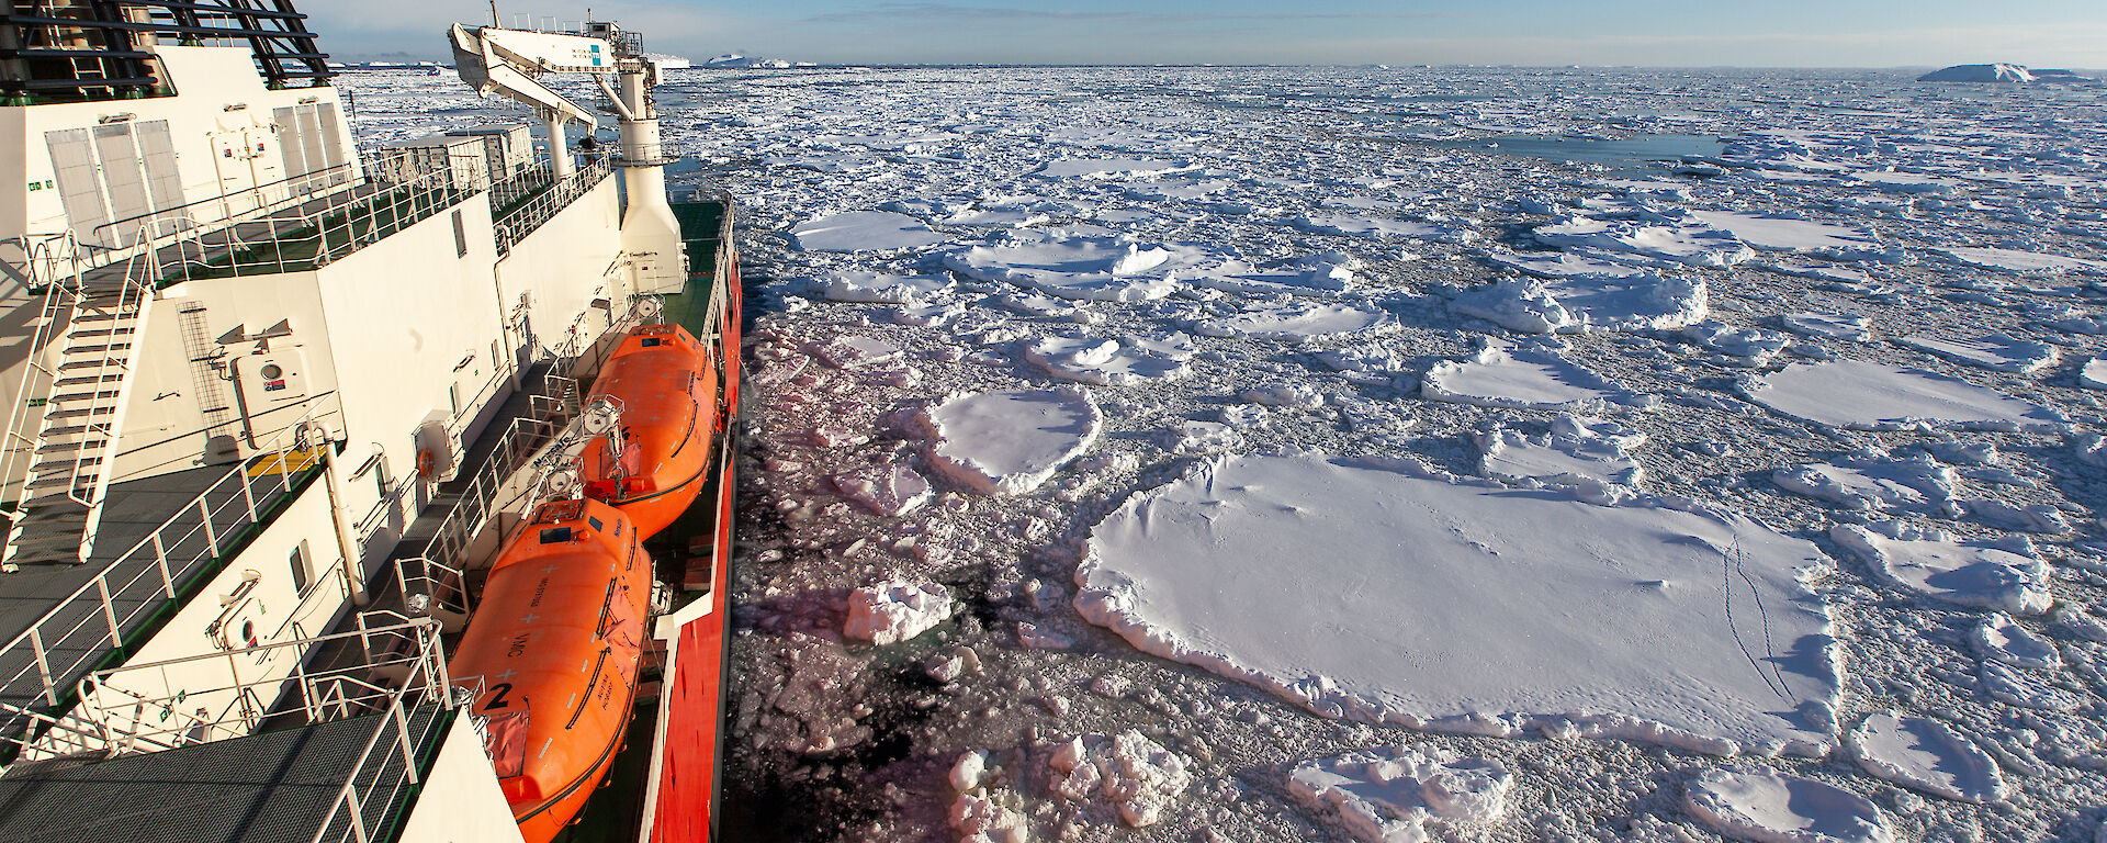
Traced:
MULTIPOLYGON (((2107 0, 499 0, 508 25, 590 6, 653 53, 815 63, 1513 63, 2107 67, 2107 0)), ((339 59, 442 59, 489 0, 303 0, 339 59)))

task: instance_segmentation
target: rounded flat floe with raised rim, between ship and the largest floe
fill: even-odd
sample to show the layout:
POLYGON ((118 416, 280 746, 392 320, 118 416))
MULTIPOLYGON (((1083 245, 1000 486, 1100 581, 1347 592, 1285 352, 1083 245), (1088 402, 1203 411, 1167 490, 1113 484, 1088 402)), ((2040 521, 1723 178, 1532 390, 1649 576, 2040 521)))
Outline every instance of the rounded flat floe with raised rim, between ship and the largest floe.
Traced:
POLYGON ((952 483, 1020 495, 1087 451, 1104 415, 1081 390, 1013 390, 952 396, 923 409, 914 426, 931 443, 931 466, 952 483))

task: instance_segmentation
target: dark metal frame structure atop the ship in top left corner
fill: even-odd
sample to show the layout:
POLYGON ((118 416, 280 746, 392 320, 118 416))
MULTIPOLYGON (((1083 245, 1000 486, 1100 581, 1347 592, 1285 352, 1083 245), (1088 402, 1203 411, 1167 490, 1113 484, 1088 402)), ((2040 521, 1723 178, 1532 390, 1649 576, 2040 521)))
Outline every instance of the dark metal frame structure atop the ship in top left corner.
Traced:
POLYGON ((0 95, 152 97, 147 44, 247 42, 272 89, 333 76, 293 0, 13 0, 0 15, 0 95))

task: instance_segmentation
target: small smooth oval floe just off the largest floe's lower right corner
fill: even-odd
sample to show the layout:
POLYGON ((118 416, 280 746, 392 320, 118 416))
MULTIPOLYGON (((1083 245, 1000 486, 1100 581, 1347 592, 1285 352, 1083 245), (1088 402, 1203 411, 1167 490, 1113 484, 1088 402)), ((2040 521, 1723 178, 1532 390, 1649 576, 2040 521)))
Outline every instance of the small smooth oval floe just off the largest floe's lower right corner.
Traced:
POLYGON ((1934 797, 1985 803, 2004 799, 2004 773, 1953 727, 1898 712, 1867 717, 1850 733, 1850 752, 1867 773, 1934 797))

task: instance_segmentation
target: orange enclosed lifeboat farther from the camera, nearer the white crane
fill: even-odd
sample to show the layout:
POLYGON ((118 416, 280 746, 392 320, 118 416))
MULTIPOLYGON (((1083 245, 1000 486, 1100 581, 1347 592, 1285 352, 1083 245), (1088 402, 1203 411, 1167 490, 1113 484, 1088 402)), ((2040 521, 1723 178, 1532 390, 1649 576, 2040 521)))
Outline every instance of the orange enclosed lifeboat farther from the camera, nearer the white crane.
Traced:
POLYGON ((592 398, 622 403, 628 440, 619 466, 607 449, 586 455, 586 495, 605 499, 649 537, 672 525, 695 502, 710 470, 716 434, 716 360, 710 348, 678 325, 641 325, 600 365, 592 398))

